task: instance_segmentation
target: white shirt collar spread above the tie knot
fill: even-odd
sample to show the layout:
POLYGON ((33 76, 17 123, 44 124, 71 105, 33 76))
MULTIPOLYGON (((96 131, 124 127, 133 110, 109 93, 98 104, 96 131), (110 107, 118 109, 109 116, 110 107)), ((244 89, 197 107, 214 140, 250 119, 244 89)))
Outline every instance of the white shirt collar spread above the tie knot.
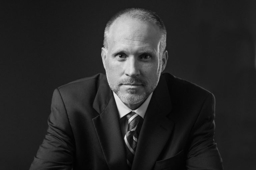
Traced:
POLYGON ((128 106, 126 106, 121 100, 120 98, 113 92, 114 94, 114 98, 116 101, 116 106, 117 106, 117 110, 119 113, 119 118, 121 119, 122 117, 124 117, 125 115, 127 115, 130 112, 135 112, 138 115, 140 115, 140 117, 142 117, 144 119, 146 110, 148 108, 148 104, 150 102, 150 99, 152 97, 152 93, 150 93, 150 95, 148 96, 148 98, 142 103, 142 105, 140 105, 139 108, 137 108, 136 110, 131 110, 128 106))

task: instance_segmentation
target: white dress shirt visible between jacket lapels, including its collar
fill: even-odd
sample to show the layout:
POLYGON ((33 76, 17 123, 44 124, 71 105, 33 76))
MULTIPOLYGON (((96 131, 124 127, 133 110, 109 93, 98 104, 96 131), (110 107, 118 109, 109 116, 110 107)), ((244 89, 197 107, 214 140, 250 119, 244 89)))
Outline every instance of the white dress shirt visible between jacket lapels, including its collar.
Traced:
MULTIPOLYGON (((153 92, 152 92, 153 93, 153 92)), ((126 106, 121 100, 120 98, 113 92, 114 94, 114 98, 116 101, 116 106, 117 106, 117 110, 119 113, 119 122, 120 122, 120 127, 121 127, 121 131, 122 131, 122 136, 125 136, 125 133, 127 131, 128 128, 128 124, 127 124, 127 118, 126 115, 130 112, 135 112, 137 113, 143 120, 145 117, 145 113, 146 110, 148 108, 148 104, 150 102, 150 99, 152 97, 152 93, 150 93, 150 95, 148 96, 148 98, 142 103, 142 105, 140 105, 140 107, 138 107, 136 110, 131 110, 128 106, 126 106)))

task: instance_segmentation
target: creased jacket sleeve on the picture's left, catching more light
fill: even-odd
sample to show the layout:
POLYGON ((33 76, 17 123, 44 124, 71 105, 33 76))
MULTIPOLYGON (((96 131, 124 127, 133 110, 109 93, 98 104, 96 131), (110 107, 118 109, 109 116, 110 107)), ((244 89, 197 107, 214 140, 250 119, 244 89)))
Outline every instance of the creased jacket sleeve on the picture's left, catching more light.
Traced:
POLYGON ((69 170, 74 157, 74 136, 58 89, 52 97, 47 134, 40 145, 30 170, 69 170))

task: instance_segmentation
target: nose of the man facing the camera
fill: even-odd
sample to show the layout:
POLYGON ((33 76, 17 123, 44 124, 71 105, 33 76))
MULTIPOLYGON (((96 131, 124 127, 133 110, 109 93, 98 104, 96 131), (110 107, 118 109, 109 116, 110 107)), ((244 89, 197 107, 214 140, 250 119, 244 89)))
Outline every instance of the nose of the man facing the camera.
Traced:
POLYGON ((139 63, 135 57, 129 57, 125 64, 125 75, 135 77, 140 75, 139 63))

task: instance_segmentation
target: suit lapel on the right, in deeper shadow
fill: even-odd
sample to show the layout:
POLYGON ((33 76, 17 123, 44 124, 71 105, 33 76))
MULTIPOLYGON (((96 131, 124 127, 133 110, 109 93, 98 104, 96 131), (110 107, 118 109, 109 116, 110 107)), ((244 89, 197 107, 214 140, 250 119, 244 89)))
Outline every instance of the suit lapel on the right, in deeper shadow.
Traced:
POLYGON ((146 111, 133 160, 132 170, 152 169, 172 132, 171 100, 161 76, 146 111))

